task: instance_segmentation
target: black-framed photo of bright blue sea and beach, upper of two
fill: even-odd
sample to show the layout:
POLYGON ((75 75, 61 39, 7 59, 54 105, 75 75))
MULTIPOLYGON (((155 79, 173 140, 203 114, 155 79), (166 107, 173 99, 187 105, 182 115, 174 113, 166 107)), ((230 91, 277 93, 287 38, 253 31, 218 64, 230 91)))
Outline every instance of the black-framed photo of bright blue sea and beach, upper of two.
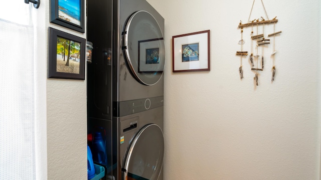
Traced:
POLYGON ((50 0, 50 22, 85 32, 84 9, 84 0, 69 0, 68 3, 64 0, 50 0))

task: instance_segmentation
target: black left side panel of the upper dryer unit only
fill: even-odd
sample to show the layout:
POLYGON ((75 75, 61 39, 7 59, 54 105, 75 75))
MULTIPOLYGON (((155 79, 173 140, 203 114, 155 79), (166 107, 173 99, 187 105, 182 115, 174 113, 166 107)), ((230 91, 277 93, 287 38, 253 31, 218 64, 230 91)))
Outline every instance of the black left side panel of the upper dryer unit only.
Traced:
POLYGON ((87 1, 87 41, 93 43, 87 63, 88 117, 112 119, 112 0, 87 1))

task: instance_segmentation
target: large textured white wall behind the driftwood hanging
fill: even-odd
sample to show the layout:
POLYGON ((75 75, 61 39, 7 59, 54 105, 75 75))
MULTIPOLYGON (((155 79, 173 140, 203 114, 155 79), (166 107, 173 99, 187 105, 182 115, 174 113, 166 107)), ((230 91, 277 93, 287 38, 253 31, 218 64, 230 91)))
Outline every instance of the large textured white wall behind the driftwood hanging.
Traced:
MULTIPOLYGON (((320 1, 264 1, 282 33, 275 81, 270 44, 259 86, 235 55, 253 0, 147 1, 165 18, 165 179, 319 179, 320 1), (172 36, 207 29, 211 71, 173 73, 172 36)), ((265 16, 255 6, 251 19, 265 16)))

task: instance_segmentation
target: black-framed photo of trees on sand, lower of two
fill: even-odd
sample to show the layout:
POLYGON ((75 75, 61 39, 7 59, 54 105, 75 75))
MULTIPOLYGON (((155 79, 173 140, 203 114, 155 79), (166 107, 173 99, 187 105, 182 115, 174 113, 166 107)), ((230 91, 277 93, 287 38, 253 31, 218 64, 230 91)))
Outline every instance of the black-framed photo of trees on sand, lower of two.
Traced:
POLYGON ((49 27, 48 44, 48 78, 85 79, 85 38, 49 27))

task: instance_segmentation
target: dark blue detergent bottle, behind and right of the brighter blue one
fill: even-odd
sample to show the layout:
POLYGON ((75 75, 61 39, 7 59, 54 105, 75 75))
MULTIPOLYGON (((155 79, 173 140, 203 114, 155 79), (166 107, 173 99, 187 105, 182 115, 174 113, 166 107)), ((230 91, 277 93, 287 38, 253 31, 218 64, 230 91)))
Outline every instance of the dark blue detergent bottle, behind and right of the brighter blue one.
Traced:
POLYGON ((95 132, 93 139, 93 160, 107 165, 106 143, 101 132, 95 132))

